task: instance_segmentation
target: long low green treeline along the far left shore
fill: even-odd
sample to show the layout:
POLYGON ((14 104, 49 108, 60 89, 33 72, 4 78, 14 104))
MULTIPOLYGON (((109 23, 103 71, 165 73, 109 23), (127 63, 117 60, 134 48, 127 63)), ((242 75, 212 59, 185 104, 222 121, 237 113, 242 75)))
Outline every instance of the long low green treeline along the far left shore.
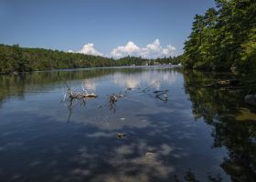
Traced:
POLYGON ((150 60, 127 56, 119 60, 102 56, 67 53, 43 48, 24 48, 19 45, 0 45, 0 73, 27 72, 37 70, 103 67, 103 66, 143 66, 155 63, 177 63, 176 57, 150 60))

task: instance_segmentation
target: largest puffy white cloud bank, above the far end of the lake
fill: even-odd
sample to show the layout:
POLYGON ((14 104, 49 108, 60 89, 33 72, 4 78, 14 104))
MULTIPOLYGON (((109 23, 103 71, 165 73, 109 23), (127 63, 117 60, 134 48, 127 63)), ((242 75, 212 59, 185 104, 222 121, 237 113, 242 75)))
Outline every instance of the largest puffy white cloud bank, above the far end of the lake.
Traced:
POLYGON ((138 47, 132 41, 129 41, 127 45, 118 46, 112 49, 110 56, 114 58, 120 58, 123 56, 142 56, 144 58, 158 58, 174 56, 176 47, 172 45, 166 45, 163 47, 160 44, 159 39, 155 39, 154 43, 146 45, 145 47, 138 47))

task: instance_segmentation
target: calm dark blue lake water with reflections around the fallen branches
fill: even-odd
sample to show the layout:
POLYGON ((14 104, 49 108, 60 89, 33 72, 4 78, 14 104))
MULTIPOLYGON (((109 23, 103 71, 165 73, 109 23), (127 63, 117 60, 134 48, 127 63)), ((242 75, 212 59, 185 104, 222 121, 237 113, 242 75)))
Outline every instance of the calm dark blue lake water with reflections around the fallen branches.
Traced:
POLYGON ((201 87, 230 77, 177 67, 1 76, 0 181, 255 181, 255 109, 241 90, 201 87), (99 97, 69 109, 62 77, 99 97))

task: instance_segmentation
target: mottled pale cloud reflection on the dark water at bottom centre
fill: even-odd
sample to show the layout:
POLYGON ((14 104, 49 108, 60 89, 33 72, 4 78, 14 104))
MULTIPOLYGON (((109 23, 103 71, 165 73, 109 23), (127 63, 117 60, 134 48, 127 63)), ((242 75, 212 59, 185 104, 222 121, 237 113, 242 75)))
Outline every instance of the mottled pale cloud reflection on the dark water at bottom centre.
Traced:
POLYGON ((166 165, 163 158, 174 152, 175 147, 162 144, 159 147, 149 146, 144 140, 138 140, 132 144, 126 144, 116 147, 102 145, 95 148, 80 147, 76 157, 69 158, 78 163, 78 167, 73 168, 69 175, 76 177, 92 177, 95 168, 100 167, 101 163, 95 163, 101 159, 102 164, 113 167, 111 172, 106 171, 92 177, 91 181, 104 182, 132 182, 150 181, 155 179, 167 179, 175 168, 166 165), (95 150, 103 149, 102 153, 95 150), (82 167, 86 164, 86 167, 82 167), (117 170, 114 170, 117 169, 117 170))

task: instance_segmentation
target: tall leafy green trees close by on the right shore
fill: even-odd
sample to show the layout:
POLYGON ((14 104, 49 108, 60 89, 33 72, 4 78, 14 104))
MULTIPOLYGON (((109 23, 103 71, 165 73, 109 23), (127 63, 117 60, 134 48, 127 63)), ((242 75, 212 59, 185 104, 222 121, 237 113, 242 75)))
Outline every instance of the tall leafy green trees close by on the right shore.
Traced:
POLYGON ((256 77, 256 2, 215 0, 216 8, 196 15, 182 64, 207 71, 256 77))

